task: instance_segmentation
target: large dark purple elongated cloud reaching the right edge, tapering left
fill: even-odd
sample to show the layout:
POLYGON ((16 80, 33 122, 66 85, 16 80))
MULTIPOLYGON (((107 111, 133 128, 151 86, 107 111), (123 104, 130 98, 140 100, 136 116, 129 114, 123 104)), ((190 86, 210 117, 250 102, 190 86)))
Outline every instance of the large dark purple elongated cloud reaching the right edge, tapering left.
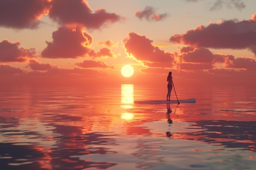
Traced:
POLYGON ((193 30, 186 31, 184 34, 173 35, 170 41, 205 48, 250 49, 255 52, 255 15, 252 19, 241 22, 228 20, 221 24, 200 25, 193 30))

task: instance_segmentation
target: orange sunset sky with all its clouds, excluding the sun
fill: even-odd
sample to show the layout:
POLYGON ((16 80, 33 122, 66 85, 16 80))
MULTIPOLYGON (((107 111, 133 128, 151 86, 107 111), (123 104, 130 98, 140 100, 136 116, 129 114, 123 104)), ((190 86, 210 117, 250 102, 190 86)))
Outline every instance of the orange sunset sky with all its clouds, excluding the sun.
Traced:
POLYGON ((185 86, 256 85, 255 1, 0 0, 3 86, 166 86, 169 71, 185 86))

